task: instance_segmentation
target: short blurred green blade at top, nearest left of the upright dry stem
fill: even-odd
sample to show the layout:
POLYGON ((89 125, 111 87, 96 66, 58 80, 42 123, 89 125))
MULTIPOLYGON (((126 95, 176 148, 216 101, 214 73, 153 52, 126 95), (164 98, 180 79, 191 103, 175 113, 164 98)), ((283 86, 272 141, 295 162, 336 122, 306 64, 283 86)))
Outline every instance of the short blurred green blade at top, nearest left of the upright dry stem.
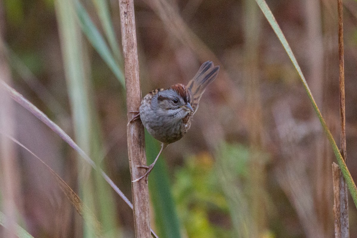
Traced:
POLYGON ((114 34, 115 31, 110 19, 108 2, 106 0, 93 0, 93 3, 97 9, 97 13, 104 29, 104 33, 109 41, 110 48, 113 51, 115 58, 119 61, 119 64, 122 65, 124 64, 123 58, 114 34))

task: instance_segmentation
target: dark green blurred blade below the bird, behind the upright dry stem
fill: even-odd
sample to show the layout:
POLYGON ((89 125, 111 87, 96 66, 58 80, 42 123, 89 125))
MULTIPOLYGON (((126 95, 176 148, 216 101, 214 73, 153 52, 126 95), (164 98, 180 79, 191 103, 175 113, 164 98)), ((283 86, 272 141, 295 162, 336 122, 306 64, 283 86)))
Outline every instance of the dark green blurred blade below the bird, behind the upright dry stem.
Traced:
MULTIPOLYGON (((145 142, 147 163, 151 164, 160 151, 160 144, 147 131, 145 131, 145 142)), ((172 197, 169 173, 162 156, 149 175, 149 190, 159 237, 180 238, 180 222, 172 197)))

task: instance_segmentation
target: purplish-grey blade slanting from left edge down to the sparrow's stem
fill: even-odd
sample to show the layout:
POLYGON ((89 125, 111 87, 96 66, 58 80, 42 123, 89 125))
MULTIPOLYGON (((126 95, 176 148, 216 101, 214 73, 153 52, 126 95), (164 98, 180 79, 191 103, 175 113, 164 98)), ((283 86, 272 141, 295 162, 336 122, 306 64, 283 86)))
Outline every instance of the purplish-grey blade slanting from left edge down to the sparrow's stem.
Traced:
MULTIPOLYGON (((16 92, 14 88, 10 87, 4 81, 0 80, 1 88, 5 90, 5 92, 17 103, 19 103, 26 110, 31 112, 35 117, 37 117, 40 121, 45 123, 48 127, 51 128, 59 137, 62 138, 69 146, 71 146, 79 155, 92 166, 96 171, 101 173, 102 177, 109 183, 109 185, 114 189, 114 191, 119 194, 119 196, 125 201, 128 206, 133 209, 133 206, 129 199, 120 191, 120 189, 114 184, 114 182, 107 176, 107 174, 96 166, 96 164, 92 161, 92 159, 69 137, 66 132, 64 132, 56 123, 51 121, 43 112, 41 112, 35 105, 29 102, 26 98, 24 98, 20 93, 16 92)), ((1 95, 1 93, 0 93, 1 95)), ((154 231, 151 230, 151 234, 153 237, 157 237, 154 231)))

